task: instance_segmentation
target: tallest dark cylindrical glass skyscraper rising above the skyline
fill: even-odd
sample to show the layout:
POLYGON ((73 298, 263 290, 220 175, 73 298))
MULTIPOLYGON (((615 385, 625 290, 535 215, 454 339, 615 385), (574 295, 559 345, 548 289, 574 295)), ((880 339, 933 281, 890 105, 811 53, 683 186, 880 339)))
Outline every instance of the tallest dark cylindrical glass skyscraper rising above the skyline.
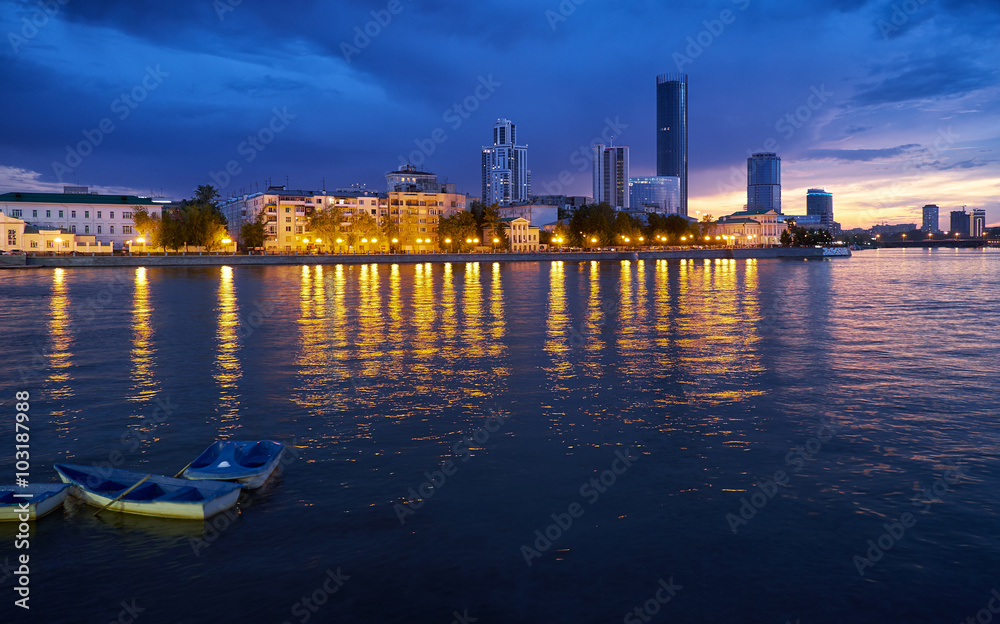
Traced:
POLYGON ((687 215, 687 74, 656 77, 656 175, 681 181, 679 213, 687 215))

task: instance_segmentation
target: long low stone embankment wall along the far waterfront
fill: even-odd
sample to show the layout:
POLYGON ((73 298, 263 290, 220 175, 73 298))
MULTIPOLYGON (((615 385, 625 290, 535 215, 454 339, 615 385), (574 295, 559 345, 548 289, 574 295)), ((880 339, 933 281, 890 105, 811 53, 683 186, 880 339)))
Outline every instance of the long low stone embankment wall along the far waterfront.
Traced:
POLYGON ((848 258, 849 249, 771 247, 664 251, 577 251, 531 253, 428 253, 246 256, 233 254, 171 256, 3 256, 3 268, 138 267, 138 266, 269 266, 309 264, 423 264, 427 262, 587 262, 622 260, 780 260, 848 258), (20 259, 21 262, 16 260, 20 259))

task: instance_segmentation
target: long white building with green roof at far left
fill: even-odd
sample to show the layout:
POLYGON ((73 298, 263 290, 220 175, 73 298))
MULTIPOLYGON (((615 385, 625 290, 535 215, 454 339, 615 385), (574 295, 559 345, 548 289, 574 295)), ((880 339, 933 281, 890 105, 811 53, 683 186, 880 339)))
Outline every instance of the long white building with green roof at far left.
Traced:
POLYGON ((4 193, 0 195, 0 212, 45 231, 90 235, 95 244, 121 250, 138 236, 132 219, 136 209, 145 209, 150 216, 159 217, 163 205, 169 203, 136 195, 101 195, 87 191, 87 187, 66 187, 62 194, 4 193))

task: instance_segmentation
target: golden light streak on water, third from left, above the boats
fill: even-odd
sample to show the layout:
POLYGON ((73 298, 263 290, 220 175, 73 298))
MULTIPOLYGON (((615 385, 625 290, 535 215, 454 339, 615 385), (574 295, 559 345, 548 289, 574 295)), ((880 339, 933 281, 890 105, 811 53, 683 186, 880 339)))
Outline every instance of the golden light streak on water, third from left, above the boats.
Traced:
POLYGON ((233 285, 233 268, 230 266, 220 268, 216 316, 219 319, 216 330, 219 346, 213 374, 219 387, 219 405, 216 411, 222 417, 220 431, 230 431, 239 422, 240 395, 237 384, 243 376, 239 357, 239 305, 233 285))

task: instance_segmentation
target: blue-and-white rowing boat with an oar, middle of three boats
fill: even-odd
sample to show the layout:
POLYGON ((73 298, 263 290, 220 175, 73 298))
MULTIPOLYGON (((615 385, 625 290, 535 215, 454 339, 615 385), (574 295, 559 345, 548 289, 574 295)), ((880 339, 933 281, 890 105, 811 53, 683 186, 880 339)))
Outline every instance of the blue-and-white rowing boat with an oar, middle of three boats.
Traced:
POLYGON ((95 507, 111 503, 108 507, 111 511, 159 518, 210 518, 235 505, 242 489, 235 483, 192 482, 95 466, 56 464, 55 468, 60 479, 73 485, 70 491, 73 496, 95 507))

